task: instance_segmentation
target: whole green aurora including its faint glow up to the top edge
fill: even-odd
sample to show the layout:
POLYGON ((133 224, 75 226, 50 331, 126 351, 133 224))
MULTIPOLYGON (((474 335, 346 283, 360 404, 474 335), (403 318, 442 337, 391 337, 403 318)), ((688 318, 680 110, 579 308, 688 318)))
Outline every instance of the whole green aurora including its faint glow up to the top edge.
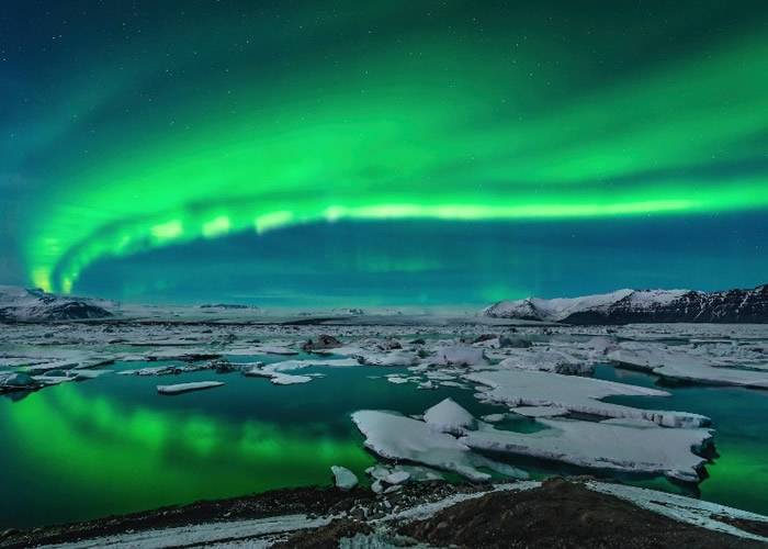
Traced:
POLYGON ((759 3, 139 3, 10 115, 7 171, 45 182, 20 206, 37 287, 307 223, 768 208, 759 3))

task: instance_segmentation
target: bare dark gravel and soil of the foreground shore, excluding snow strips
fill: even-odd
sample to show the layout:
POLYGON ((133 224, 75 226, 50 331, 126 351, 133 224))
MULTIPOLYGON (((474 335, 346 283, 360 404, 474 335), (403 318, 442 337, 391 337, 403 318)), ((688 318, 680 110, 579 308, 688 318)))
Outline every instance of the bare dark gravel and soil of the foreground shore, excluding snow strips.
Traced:
MULTIPOLYGON (((197 502, 178 507, 106 517, 86 523, 0 534, 0 547, 34 547, 77 541, 206 522, 263 518, 303 513, 346 518, 314 530, 294 534, 275 547, 335 548, 341 538, 371 534, 371 518, 455 492, 476 492, 477 485, 438 482, 408 484, 399 492, 376 496, 355 489, 289 489, 263 494, 197 502)), ((766 524, 734 523, 744 530, 768 535, 766 524)), ((592 492, 578 482, 554 479, 521 492, 494 492, 468 500, 434 516, 410 524, 388 524, 387 535, 432 547, 460 548, 765 548, 768 544, 685 525, 641 509, 611 495, 592 492)), ((381 525, 379 527, 381 531, 381 525)))

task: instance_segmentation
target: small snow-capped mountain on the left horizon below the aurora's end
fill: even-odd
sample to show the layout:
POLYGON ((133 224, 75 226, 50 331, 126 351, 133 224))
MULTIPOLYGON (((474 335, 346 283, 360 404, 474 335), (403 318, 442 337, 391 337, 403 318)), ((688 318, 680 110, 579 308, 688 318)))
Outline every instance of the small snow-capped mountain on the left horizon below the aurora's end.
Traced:
POLYGON ((114 304, 105 300, 70 298, 0 285, 0 322, 71 321, 112 316, 114 304))

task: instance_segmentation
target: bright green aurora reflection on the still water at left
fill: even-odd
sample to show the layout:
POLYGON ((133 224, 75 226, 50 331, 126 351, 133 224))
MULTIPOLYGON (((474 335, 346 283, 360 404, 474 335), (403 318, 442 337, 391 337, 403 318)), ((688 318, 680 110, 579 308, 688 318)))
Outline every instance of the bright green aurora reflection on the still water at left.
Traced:
POLYGON ((357 440, 304 425, 127 405, 66 384, 14 403, 7 418, 26 467, 57 463, 57 490, 110 502, 102 513, 327 484, 332 464, 362 472, 374 461, 357 440))

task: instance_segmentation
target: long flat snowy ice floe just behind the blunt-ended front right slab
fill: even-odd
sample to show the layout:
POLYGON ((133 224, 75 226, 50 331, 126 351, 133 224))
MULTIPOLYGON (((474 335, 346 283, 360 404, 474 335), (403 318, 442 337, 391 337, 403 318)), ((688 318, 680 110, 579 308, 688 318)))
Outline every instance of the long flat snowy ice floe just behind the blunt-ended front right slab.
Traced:
POLYGON ((709 418, 699 414, 640 410, 600 400, 618 395, 669 395, 656 389, 526 370, 484 371, 466 374, 465 378, 489 388, 482 393, 484 399, 507 404, 509 407, 555 406, 568 412, 601 417, 648 419, 667 427, 700 427, 709 424, 709 418))

